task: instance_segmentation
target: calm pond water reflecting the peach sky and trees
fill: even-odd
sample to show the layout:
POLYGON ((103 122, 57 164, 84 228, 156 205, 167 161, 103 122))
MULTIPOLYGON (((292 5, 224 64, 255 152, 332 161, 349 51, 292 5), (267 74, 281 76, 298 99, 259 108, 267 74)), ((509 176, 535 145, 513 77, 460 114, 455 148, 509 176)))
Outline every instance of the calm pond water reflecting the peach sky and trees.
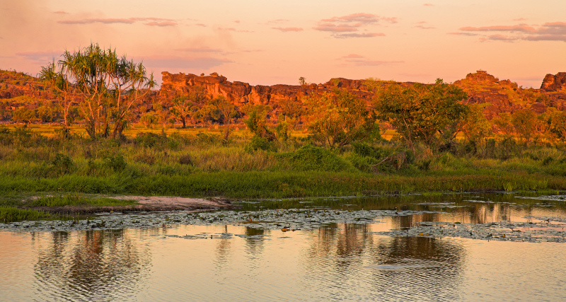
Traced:
POLYGON ((249 215, 268 209, 316 213, 308 216, 406 214, 286 232, 258 228, 257 221, 95 231, 5 229, 0 231, 0 301, 566 301, 566 243, 547 242, 564 236, 566 201, 518 197, 242 204, 240 212, 249 215), (497 235, 498 240, 487 240, 492 230, 474 231, 470 238, 440 236, 433 233, 439 226, 422 235, 391 233, 408 232, 423 221, 454 229, 512 223, 514 231, 497 235), (536 237, 536 226, 552 232, 536 237))

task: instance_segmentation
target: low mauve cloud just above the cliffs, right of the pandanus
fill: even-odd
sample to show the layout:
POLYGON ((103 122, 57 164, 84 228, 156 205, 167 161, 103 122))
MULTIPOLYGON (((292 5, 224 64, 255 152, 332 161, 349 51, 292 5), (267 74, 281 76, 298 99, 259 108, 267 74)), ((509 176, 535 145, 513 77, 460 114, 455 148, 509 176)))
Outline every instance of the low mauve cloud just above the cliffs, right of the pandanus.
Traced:
POLYGON ((228 63, 233 63, 233 61, 214 57, 185 58, 152 56, 144 59, 144 65, 148 68, 209 69, 228 63))

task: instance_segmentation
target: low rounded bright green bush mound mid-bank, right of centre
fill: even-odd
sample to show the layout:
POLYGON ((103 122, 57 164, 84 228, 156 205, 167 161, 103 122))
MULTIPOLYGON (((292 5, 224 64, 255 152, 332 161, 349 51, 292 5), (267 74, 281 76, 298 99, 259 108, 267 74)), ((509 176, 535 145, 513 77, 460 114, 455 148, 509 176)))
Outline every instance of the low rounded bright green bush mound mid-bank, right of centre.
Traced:
POLYGON ((277 159, 296 171, 352 171, 354 167, 328 149, 306 145, 294 152, 278 153, 277 159))

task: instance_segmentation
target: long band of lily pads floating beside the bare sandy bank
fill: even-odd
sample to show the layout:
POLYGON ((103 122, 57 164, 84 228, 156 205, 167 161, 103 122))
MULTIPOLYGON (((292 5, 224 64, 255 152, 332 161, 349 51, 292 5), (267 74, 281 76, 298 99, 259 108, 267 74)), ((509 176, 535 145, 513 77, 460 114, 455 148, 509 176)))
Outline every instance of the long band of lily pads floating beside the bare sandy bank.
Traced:
MULTIPOLYGON (((8 231, 80 231, 122 228, 168 228, 174 225, 246 226, 286 231, 311 230, 329 223, 377 223, 386 216, 410 216, 438 211, 267 209, 262 211, 157 212, 151 214, 105 213, 84 220, 20 221, 0 223, 8 231)), ((206 235, 210 237, 210 235, 206 235)), ((201 237, 206 237, 201 236, 201 237)), ((199 237, 199 236, 197 236, 199 237)), ((214 235, 212 236, 214 238, 214 235)), ((200 238, 200 237, 199 237, 200 238)))

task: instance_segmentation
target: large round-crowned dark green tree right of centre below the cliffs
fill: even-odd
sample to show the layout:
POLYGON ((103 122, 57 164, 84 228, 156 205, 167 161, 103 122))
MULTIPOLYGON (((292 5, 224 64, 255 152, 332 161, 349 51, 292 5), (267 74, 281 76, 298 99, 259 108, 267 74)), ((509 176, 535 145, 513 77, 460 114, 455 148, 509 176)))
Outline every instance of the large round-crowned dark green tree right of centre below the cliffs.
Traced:
POLYGON ((468 95, 458 86, 437 80, 434 85, 390 84, 376 95, 379 119, 389 122, 415 153, 422 142, 430 149, 453 140, 469 109, 459 103, 468 95))

